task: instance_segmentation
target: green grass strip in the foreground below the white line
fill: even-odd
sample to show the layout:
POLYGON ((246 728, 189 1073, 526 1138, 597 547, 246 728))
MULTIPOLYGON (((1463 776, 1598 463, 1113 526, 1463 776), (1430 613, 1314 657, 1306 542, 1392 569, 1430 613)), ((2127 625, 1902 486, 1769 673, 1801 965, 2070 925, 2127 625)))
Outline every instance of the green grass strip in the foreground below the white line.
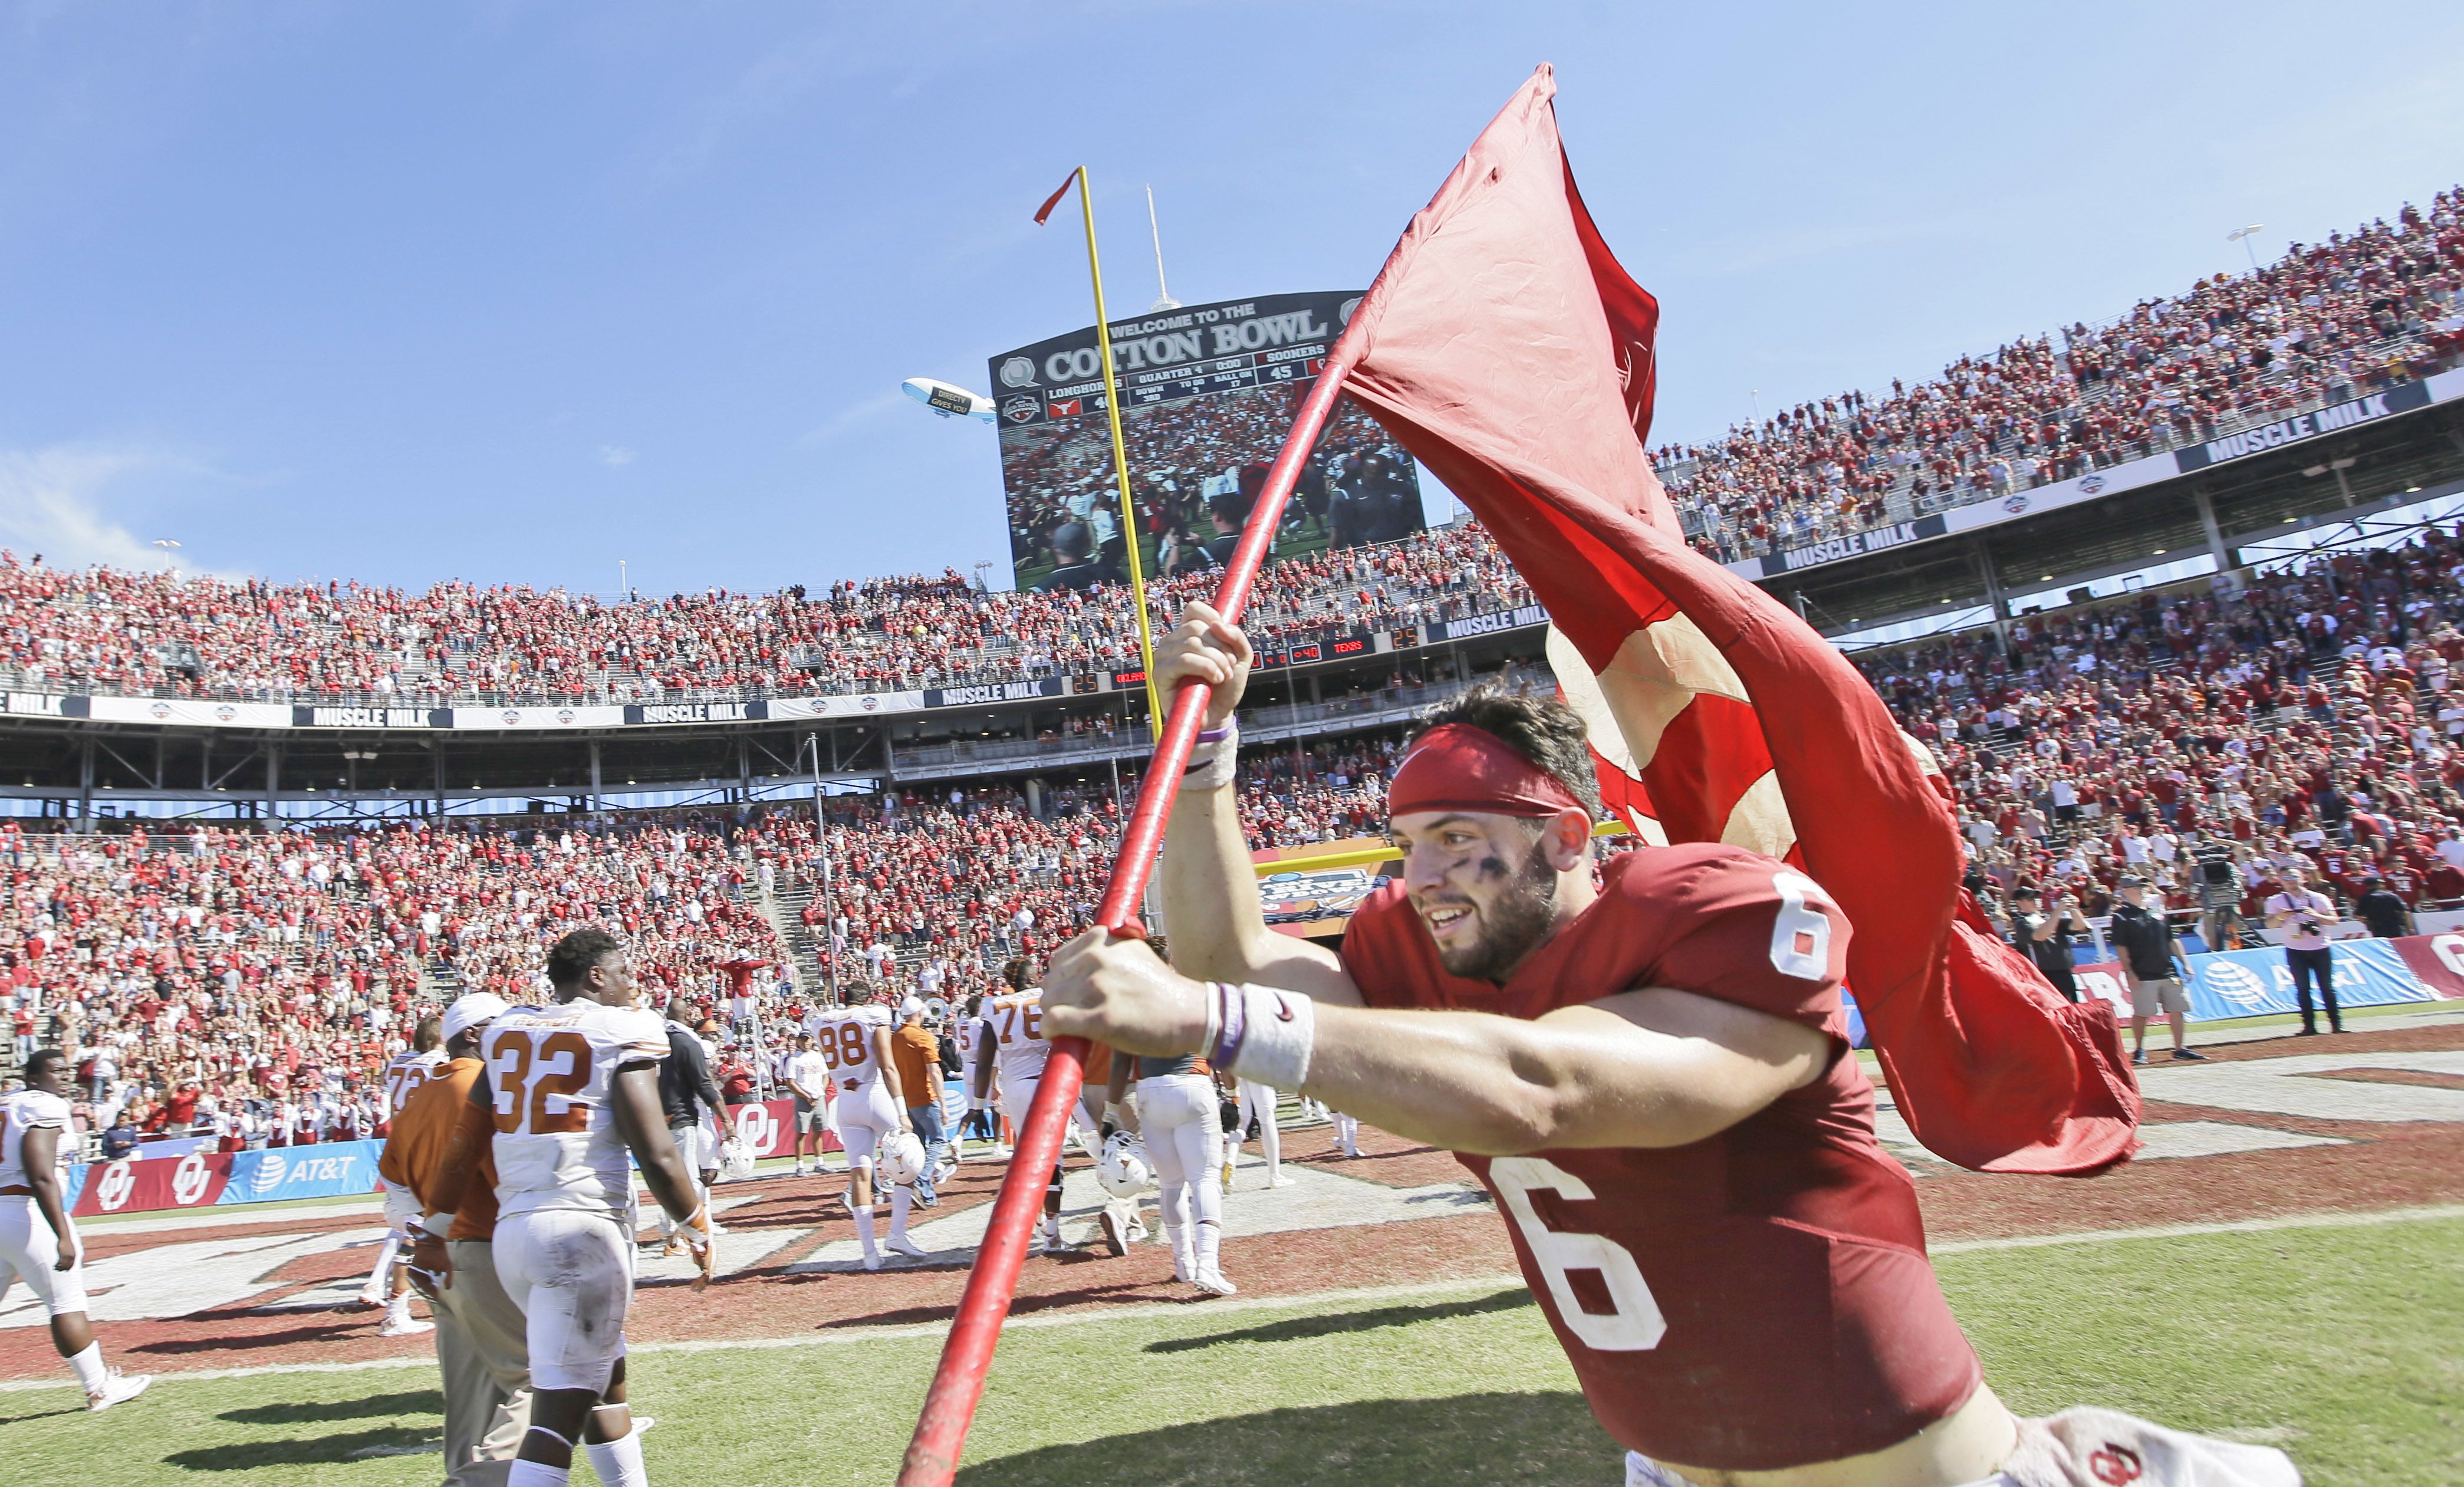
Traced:
MULTIPOLYGON (((2013 1408, 2102 1403, 2282 1443, 2314 1485, 2464 1482, 2464 1221, 1984 1250, 1939 1263, 2013 1408)), ((1331 1277, 1338 1280, 1338 1277, 1331 1277)), ((781 1332, 791 1327, 781 1319, 781 1332)), ((660 1482, 890 1482, 936 1339, 660 1351, 636 1403, 660 1482)), ((15 1482, 434 1482, 416 1369, 165 1381, 89 1418, 0 1396, 15 1482), (411 1455, 360 1455, 411 1452, 411 1455)), ((1205 1307, 1013 1329, 973 1487, 1432 1487, 1619 1480, 1520 1290, 1205 1307)), ((577 1482, 589 1470, 577 1462, 577 1482)))

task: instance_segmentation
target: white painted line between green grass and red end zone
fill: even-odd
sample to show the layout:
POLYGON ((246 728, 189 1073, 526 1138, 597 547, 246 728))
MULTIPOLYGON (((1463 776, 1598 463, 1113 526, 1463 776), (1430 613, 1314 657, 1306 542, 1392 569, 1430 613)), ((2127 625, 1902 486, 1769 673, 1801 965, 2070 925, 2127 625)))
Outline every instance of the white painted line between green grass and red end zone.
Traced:
MULTIPOLYGON (((2109 1240, 2146 1240, 2146 1238, 2195 1238, 2208 1233, 2272 1233, 2284 1228, 2378 1228, 2385 1223, 2432 1223, 2439 1218, 2464 1218, 2464 1203, 2434 1203, 2425 1208, 2378 1208, 2370 1213, 2287 1213, 2277 1218, 2235 1218, 2223 1223, 2156 1223, 2149 1228, 2092 1228, 2085 1233, 2043 1233, 2043 1235, 2011 1235, 2011 1238, 1986 1238, 1986 1240, 1951 1240, 1932 1245, 1939 1255, 1971 1255, 1984 1250, 2040 1250, 2053 1245, 2092 1245, 2109 1240)), ((1249 1297, 1249 1300, 1215 1300, 1215 1302, 1156 1302, 1146 1307, 1121 1307, 1116 1312, 1030 1312, 1025 1317, 1010 1317, 1003 1332, 1035 1332, 1045 1327, 1087 1327, 1094 1322, 1143 1322, 1153 1317, 1230 1317, 1239 1312, 1284 1312, 1296 1307, 1343 1307, 1360 1302, 1395 1302, 1427 1295, 1466 1292, 1466 1290, 1498 1290, 1520 1287, 1520 1275, 1466 1275, 1461 1280, 1427 1280, 1419 1285, 1370 1285, 1355 1290, 1318 1290, 1289 1297, 1249 1297)), ((946 1322, 912 1322, 904 1327, 843 1327, 835 1332, 816 1332, 811 1337, 747 1337, 747 1339, 687 1339, 687 1342, 643 1342, 626 1351, 631 1354, 722 1354, 722 1351, 776 1351, 776 1349, 803 1349, 803 1346, 840 1346, 850 1342, 902 1342, 919 1337, 941 1337, 949 1332, 946 1322)), ((212 1378, 264 1378, 269 1374, 367 1374, 372 1369, 434 1369, 436 1359, 431 1354, 407 1354, 399 1359, 360 1359, 355 1364, 256 1364, 249 1369, 187 1369, 172 1374, 155 1374, 155 1383, 172 1378, 180 1381, 212 1381, 212 1378)), ((76 1388, 76 1378, 0 1378, 0 1393, 25 1393, 32 1388, 76 1388)))

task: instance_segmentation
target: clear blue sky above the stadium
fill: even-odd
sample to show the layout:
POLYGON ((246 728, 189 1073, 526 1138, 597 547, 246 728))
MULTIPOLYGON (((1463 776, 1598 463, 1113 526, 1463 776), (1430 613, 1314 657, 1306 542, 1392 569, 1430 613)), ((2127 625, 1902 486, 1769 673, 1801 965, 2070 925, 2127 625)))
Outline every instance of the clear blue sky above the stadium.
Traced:
MULTIPOLYGON (((1370 279, 1535 62, 1661 296, 1656 439, 2464 180, 2464 10, 0 7, 0 543, 648 592, 1005 557, 983 385, 1116 306, 1370 279), (1717 15, 1705 15, 1705 12, 1717 15)), ((1005 567, 995 570, 1003 575, 1005 567)))

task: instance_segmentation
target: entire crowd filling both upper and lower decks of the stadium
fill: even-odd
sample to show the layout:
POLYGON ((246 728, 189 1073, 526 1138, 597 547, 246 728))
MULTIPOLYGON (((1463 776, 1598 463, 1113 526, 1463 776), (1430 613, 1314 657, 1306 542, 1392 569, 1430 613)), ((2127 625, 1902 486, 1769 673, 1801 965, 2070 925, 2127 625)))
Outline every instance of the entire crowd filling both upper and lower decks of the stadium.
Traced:
MULTIPOLYGON (((2464 335, 2457 205, 1658 461, 1695 545, 1732 562, 2422 382, 2464 335)), ((2380 471, 2385 501, 2425 469, 2464 488, 2454 424, 2417 444, 2432 454, 2380 471)), ((2011 530, 2028 552, 2055 528, 2011 530)), ((2464 900, 2464 530, 2425 518, 2378 543, 2053 612, 1996 599, 1956 634, 1860 651, 1951 779, 1979 900, 2003 912, 2043 885, 2099 915, 2141 873, 2208 942, 2309 868, 2346 900, 2370 878, 2417 907, 2464 900)), ((1158 617, 1210 587, 1156 584, 1158 617)), ((1244 718, 1252 846, 1380 834, 1407 718, 1478 676, 1545 686, 1542 621, 1473 523, 1264 570, 1247 624, 1279 656, 1244 718)), ((983 592, 949 572, 609 602, 0 555, 0 792, 44 811, 0 821, 0 1063, 71 1048, 89 1137, 123 1112, 224 1144, 370 1132, 375 1075, 421 1014, 466 986, 520 991, 557 935, 596 920, 717 1023, 722 1078, 759 1083, 776 1018, 833 989, 963 996, 1089 922, 1146 755, 1136 666, 1119 587, 983 592), (949 690, 867 713, 912 688, 949 690), (106 723, 64 703, 89 695, 155 710, 106 723), (749 698, 848 705, 779 723, 737 708, 749 698), (170 703, 301 718, 214 732, 170 703), (310 703, 377 713, 328 723, 310 703), (618 703, 638 727, 577 725, 586 767, 579 732, 510 732, 517 708, 618 703), (660 703, 710 710, 633 715, 660 703), (505 732, 397 705, 490 710, 485 727, 503 708, 505 732), (397 789, 414 755, 419 789, 397 789), (680 755, 700 762, 673 779, 719 782, 697 804, 606 799, 680 755), (168 789, 168 757, 197 789, 168 789), (241 757, 264 794, 219 797, 241 757), (303 760, 340 769, 306 779, 303 760), (190 816, 99 814, 113 792, 190 816)))

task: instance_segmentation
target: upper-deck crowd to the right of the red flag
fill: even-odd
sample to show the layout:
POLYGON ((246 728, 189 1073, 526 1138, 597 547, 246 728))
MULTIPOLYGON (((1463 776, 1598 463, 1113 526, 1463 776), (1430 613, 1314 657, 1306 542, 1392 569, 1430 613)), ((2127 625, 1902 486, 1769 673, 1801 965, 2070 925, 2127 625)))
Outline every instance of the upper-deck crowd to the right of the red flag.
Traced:
POLYGON ((2215 439, 2464 353, 2464 187, 2252 274, 1964 355, 1653 454, 1698 550, 1732 562, 2215 439))

